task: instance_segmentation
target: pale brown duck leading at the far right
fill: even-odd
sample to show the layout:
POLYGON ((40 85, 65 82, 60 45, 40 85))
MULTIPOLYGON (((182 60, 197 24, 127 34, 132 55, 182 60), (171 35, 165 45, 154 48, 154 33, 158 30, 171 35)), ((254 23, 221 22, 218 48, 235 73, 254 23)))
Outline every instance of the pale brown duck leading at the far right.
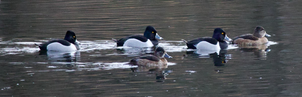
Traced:
POLYGON ((268 42, 264 36, 270 37, 262 26, 257 26, 253 34, 243 34, 233 38, 232 44, 237 45, 262 45, 268 42))

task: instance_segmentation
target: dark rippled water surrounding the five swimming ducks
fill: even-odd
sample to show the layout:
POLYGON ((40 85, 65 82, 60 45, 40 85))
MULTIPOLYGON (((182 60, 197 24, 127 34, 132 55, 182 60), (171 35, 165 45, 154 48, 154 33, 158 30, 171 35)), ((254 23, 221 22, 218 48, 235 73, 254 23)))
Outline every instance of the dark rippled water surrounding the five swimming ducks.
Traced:
POLYGON ((1 0, 0 96, 300 96, 300 1, 1 0), (156 28, 172 59, 162 67, 128 60, 156 47, 117 47, 111 38, 156 28), (233 38, 263 26, 266 45, 187 49, 181 39, 233 38), (34 43, 76 33, 81 50, 34 43))

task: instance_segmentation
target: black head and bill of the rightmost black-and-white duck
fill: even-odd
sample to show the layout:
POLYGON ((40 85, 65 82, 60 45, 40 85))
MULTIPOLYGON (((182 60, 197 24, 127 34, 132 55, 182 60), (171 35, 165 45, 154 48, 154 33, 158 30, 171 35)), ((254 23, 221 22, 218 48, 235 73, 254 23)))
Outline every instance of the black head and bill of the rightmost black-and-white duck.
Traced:
POLYGON ((232 39, 226 36, 226 32, 221 28, 216 28, 214 30, 212 38, 216 39, 217 41, 223 41, 223 39, 226 39, 227 41, 232 41, 232 39))

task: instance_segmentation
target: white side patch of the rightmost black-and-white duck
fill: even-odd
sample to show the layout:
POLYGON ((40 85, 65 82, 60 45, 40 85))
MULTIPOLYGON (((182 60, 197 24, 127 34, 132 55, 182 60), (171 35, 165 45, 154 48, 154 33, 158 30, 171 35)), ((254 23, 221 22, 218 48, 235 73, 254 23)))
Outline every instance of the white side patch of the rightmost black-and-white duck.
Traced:
POLYGON ((217 42, 216 45, 213 45, 209 42, 202 41, 199 42, 197 45, 194 45, 196 49, 201 49, 201 50, 220 50, 219 43, 217 42))

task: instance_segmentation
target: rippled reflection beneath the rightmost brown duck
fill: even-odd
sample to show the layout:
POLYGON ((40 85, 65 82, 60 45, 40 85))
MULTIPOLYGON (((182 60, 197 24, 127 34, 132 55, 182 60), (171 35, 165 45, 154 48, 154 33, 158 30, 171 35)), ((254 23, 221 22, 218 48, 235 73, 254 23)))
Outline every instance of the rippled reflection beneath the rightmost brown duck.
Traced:
POLYGON ((254 52, 254 55, 257 56, 257 58, 265 58, 267 52, 271 51, 271 49, 268 48, 269 45, 238 45, 240 47, 240 50, 242 52, 254 52))

